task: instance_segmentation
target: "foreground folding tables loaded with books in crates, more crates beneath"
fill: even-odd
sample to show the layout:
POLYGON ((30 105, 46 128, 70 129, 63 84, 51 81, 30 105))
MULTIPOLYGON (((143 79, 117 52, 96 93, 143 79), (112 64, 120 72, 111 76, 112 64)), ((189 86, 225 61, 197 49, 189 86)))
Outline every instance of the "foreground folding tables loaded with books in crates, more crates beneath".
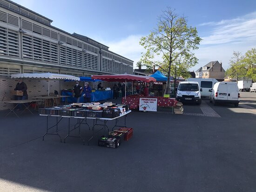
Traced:
MULTIPOLYGON (((119 132, 126 132, 125 130, 132 130, 131 128, 127 128, 126 126, 126 117, 128 115, 128 113, 131 113, 131 110, 129 110, 129 106, 123 106, 123 105, 118 105, 118 104, 114 104, 112 102, 105 102, 105 103, 73 103, 71 105, 67 105, 67 106, 56 106, 56 107, 51 107, 51 108, 42 108, 39 110, 40 116, 45 116, 46 117, 46 133, 43 135, 43 140, 45 138, 46 135, 56 135, 58 137, 60 137, 61 139, 61 135, 59 134, 59 123, 61 121, 63 121, 64 119, 68 120, 68 133, 67 136, 64 138, 64 143, 66 142, 66 139, 68 137, 76 137, 76 138, 80 138, 83 140, 83 144, 85 143, 85 137, 81 136, 81 126, 82 125, 86 125, 89 130, 92 130, 92 134, 90 135, 89 139, 88 139, 88 145, 91 139, 94 138, 95 133, 95 127, 96 126, 100 126, 101 129, 99 129, 97 132, 104 130, 104 134, 105 134, 105 130, 109 131, 113 131, 115 127, 121 127, 119 130, 119 132), (56 118, 56 124, 54 124, 53 126, 49 126, 48 120, 49 117, 53 117, 56 118), (124 124, 120 124, 118 119, 124 118, 124 124), (77 120, 77 123, 74 125, 74 127, 70 126, 70 119, 74 118, 77 120), (89 125, 89 122, 87 121, 88 119, 93 119, 93 124, 89 125), (109 128, 109 125, 107 124, 108 121, 112 121, 115 120, 115 125, 112 126, 112 129, 109 128), (55 128, 55 132, 49 132, 50 129, 55 128), (79 134, 77 136, 75 135, 70 135, 71 132, 73 132, 74 130, 79 130, 79 134)), ((132 133, 132 132, 131 132, 132 133)), ((111 137, 110 135, 108 135, 108 137, 111 137)), ((113 137, 115 137, 113 135, 113 137)), ((131 135, 130 135, 131 137, 131 135)), ((129 137, 129 138, 130 138, 129 137)), ((105 138, 105 136, 104 136, 105 138)), ((127 140, 129 139, 127 138, 127 140)), ((118 141, 119 139, 111 139, 112 143, 113 141, 118 141)), ((99 146, 102 146, 101 143, 106 140, 100 140, 99 146)), ((109 142, 108 142, 109 143, 109 142)), ((116 144, 112 143, 112 144, 116 144)), ((118 143, 119 144, 119 143, 118 143)), ((116 145, 113 146, 107 146, 107 147, 111 147, 111 148, 116 148, 116 145)))

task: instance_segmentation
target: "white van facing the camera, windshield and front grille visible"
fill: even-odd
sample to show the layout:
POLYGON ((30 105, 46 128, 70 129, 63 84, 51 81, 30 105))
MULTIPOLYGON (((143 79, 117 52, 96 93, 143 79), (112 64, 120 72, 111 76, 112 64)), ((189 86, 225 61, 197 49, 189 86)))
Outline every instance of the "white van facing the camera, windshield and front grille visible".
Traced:
POLYGON ((182 103, 190 102, 196 105, 201 104, 201 91, 198 82, 195 81, 182 81, 178 88, 176 88, 176 99, 182 103))

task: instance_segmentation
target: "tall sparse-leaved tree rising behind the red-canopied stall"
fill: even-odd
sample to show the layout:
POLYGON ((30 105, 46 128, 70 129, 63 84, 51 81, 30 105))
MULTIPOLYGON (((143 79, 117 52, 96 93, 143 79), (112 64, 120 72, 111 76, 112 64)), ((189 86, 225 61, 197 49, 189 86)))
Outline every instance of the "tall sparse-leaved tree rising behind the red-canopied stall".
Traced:
MULTIPOLYGON (((188 26, 184 16, 179 16, 175 10, 167 7, 159 16, 157 27, 148 36, 141 37, 140 45, 146 52, 142 53, 140 61, 147 68, 155 65, 167 73, 167 87, 170 87, 173 63, 179 57, 197 61, 192 59, 195 56, 191 51, 198 49, 201 40, 196 28, 188 26)), ((179 66, 178 63, 176 65, 179 66)))

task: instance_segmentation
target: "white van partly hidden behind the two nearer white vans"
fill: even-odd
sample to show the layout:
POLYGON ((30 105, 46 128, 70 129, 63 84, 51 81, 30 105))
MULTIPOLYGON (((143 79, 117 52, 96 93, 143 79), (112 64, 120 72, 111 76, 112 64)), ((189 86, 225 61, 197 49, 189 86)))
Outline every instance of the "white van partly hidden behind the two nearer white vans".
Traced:
POLYGON ((189 78, 187 81, 196 81, 198 82, 200 88, 202 88, 201 97, 209 98, 210 93, 209 89, 211 89, 215 83, 219 82, 216 79, 212 78, 189 78))

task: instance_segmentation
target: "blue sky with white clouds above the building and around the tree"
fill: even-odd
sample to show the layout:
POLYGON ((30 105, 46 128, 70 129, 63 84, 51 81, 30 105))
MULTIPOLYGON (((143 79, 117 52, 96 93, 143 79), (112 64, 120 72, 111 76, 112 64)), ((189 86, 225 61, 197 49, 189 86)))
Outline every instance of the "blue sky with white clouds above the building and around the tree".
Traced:
POLYGON ((167 6, 184 14, 203 39, 195 52, 196 70, 212 60, 225 69, 233 51, 256 47, 256 0, 13 0, 54 20, 52 25, 80 33, 134 60, 140 59, 141 36, 157 24, 167 6))

